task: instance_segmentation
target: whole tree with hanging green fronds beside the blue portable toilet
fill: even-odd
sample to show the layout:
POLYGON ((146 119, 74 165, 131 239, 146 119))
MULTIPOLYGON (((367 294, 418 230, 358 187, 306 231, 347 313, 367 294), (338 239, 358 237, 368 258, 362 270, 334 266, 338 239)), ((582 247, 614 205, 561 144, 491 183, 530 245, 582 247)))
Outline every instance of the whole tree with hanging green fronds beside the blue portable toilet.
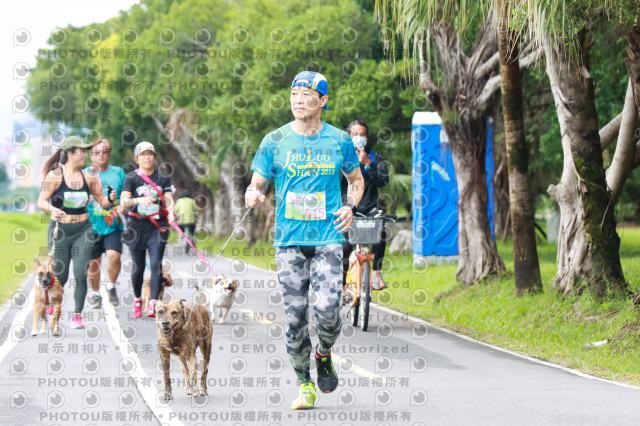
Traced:
MULTIPOLYGON (((484 135, 500 88, 496 30, 487 13, 490 5, 470 0, 376 0, 388 49, 393 54, 397 37, 405 63, 413 53, 420 88, 449 137, 460 194, 456 278, 464 284, 505 269, 491 237, 485 179, 484 135), (463 36, 470 30, 477 30, 472 45, 463 36)), ((528 48, 523 52, 521 67, 535 57, 528 48)))

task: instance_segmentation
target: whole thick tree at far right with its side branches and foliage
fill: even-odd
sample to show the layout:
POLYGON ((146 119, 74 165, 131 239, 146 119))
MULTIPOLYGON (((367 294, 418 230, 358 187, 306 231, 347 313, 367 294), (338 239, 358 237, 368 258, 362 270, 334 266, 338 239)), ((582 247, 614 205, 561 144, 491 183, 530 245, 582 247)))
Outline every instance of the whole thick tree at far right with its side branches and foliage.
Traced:
MULTIPOLYGON (((565 293, 574 290, 574 283, 580 281, 586 281, 597 296, 604 296, 609 290, 617 294, 628 290, 620 264, 614 210, 636 151, 630 131, 635 128, 637 117, 633 81, 621 119, 599 131, 594 82, 589 73, 592 22, 620 10, 623 3, 628 1, 609 1, 595 8, 564 0, 532 0, 527 4, 533 35, 544 46, 562 133, 562 179, 551 185, 548 192, 561 211, 554 286, 565 293), (619 137, 614 159, 605 174, 602 149, 616 136, 619 137)), ((635 13, 636 21, 628 22, 637 22, 637 7, 624 10, 627 13, 635 10, 632 14, 635 13)), ((621 29, 624 34, 624 25, 621 29)))

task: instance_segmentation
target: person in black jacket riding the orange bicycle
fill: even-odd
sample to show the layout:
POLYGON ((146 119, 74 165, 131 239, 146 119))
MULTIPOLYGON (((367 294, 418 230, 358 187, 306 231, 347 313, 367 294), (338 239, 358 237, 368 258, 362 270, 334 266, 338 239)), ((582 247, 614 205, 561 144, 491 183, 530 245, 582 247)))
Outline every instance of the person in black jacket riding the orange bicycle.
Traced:
MULTIPOLYGON (((361 213, 365 216, 375 216, 378 210, 381 210, 383 206, 380 205, 378 199, 378 188, 382 188, 389 183, 389 169, 387 163, 382 156, 373 151, 370 147, 367 149, 367 140, 369 138, 369 127, 367 123, 361 120, 352 121, 347 127, 347 132, 351 136, 351 140, 355 145, 356 152, 358 154, 358 161, 360 162, 360 170, 362 177, 364 178, 364 194, 362 200, 358 204, 356 209, 357 213, 361 213)), ((343 180, 343 193, 346 192, 346 181, 343 180)), ((382 261, 384 259, 384 251, 387 247, 386 236, 382 234, 382 241, 378 244, 373 244, 371 247, 373 259, 373 277, 371 279, 371 285, 374 290, 382 290, 386 287, 386 283, 382 279, 380 269, 382 269, 382 261)), ((342 259, 343 259, 343 283, 346 285, 346 276, 349 269, 349 256, 353 251, 353 245, 349 242, 342 244, 342 259)))

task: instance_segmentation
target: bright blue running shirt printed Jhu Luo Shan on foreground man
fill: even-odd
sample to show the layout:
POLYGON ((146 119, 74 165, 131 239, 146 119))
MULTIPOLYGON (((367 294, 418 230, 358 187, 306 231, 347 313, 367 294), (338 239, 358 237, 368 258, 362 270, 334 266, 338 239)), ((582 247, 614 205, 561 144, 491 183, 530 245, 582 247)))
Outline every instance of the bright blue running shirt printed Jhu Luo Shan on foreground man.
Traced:
POLYGON ((333 215, 342 207, 340 173, 360 167, 351 137, 322 123, 322 130, 303 136, 291 123, 262 139, 251 170, 275 186, 274 247, 321 246, 344 242, 333 215))

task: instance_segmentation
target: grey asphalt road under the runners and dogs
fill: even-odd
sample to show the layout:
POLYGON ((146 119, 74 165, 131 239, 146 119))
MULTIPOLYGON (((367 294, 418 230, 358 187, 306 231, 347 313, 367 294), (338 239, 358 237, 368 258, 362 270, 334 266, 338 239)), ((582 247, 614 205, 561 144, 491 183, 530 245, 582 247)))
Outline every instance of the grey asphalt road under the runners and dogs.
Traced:
MULTIPOLYGON (((175 285, 165 297, 192 300, 207 269, 178 251, 167 250, 175 285)), ((213 326, 209 395, 184 393, 172 357, 170 403, 159 399, 155 321, 129 314, 128 261, 118 287, 123 303, 86 308, 85 330, 69 327, 73 297, 65 289, 60 337, 31 337, 28 280, 0 313, 0 425, 639 423, 638 388, 524 359, 385 308, 372 309, 368 332, 345 321, 333 350, 340 387, 320 394, 313 410, 291 411, 297 387, 276 276, 241 259, 221 258, 215 269, 236 277, 240 290, 226 323, 213 326)))

